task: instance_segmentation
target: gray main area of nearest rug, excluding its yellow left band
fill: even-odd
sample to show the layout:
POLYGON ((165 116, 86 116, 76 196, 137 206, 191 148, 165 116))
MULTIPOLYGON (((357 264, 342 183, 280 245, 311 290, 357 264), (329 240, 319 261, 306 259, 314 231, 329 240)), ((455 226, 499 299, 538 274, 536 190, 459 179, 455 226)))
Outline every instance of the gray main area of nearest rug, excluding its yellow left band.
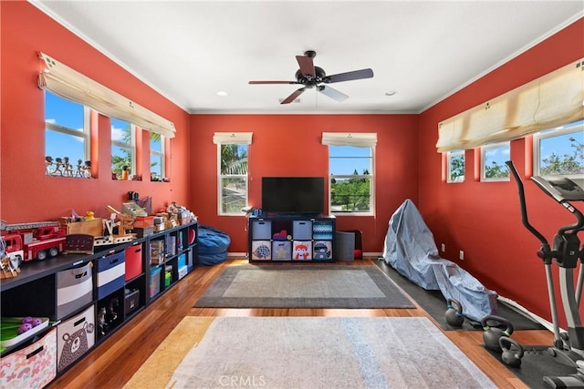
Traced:
POLYGON ((426 318, 218 317, 167 387, 495 388, 426 318))

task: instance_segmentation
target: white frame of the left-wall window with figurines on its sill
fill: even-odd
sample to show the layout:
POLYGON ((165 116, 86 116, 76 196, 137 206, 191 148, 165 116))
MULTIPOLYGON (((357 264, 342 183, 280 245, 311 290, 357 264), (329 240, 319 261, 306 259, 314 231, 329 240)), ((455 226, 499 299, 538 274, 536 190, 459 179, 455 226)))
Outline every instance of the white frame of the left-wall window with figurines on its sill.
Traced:
MULTIPOLYGON (((65 175, 63 174, 64 172, 62 172, 61 174, 51 174, 48 172, 48 165, 47 163, 45 164, 45 174, 47 176, 50 177, 63 177, 63 178, 69 178, 69 179, 78 179, 78 178, 92 178, 91 176, 91 170, 90 169, 81 169, 82 167, 85 168, 85 162, 89 161, 89 163, 91 163, 91 134, 90 134, 90 108, 77 102, 77 101, 73 101, 70 100, 68 98, 65 97, 60 97, 59 95, 57 95, 54 92, 51 92, 50 90, 45 90, 45 139, 47 138, 47 130, 48 131, 54 131, 57 132, 59 134, 64 134, 70 137, 74 137, 74 138, 81 138, 83 139, 83 165, 74 165, 74 163, 78 164, 78 161, 76 160, 71 160, 69 159, 69 163, 71 164, 71 170, 70 170, 70 174, 69 175, 65 175), (83 122, 83 128, 82 130, 78 131, 76 129, 73 128, 68 128, 65 126, 61 126, 58 125, 56 123, 51 123, 49 121, 47 121, 47 93, 50 93, 53 97, 57 97, 63 100, 67 100, 70 103, 73 104, 78 104, 80 107, 83 107, 83 118, 82 118, 82 122, 83 122)), ((45 140, 46 141, 46 140, 45 140)), ((47 144, 45 144, 45 157, 47 158, 47 144)))

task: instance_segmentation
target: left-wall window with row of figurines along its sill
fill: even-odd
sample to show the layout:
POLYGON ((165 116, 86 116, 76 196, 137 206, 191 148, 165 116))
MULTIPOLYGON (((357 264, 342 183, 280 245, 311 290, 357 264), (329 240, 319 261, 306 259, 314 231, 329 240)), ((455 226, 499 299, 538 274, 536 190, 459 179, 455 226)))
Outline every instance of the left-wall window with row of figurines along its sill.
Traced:
POLYGON ((91 177, 89 108, 45 91, 45 171, 91 177))

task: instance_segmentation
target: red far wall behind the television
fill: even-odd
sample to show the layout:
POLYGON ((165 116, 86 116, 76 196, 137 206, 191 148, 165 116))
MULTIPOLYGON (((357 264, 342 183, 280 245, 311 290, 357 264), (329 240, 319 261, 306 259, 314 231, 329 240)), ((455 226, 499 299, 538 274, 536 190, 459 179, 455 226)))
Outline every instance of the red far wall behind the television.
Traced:
POLYGON ((339 216, 339 230, 363 232, 363 250, 381 252, 391 214, 417 200, 416 115, 193 115, 191 204, 202 224, 227 232, 229 251, 247 251, 246 218, 217 216, 214 132, 253 132, 249 147, 249 203, 261 206, 263 176, 328 176, 323 132, 376 132, 376 207, 372 217, 339 216))

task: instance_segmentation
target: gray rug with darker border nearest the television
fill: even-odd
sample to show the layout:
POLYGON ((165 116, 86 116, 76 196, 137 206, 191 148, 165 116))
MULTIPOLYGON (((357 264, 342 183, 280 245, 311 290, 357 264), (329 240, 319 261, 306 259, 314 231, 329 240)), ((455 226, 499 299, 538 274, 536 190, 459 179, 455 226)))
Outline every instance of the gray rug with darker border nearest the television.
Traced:
POLYGON ((280 264, 228 267, 194 306, 415 308, 376 266, 280 264))

